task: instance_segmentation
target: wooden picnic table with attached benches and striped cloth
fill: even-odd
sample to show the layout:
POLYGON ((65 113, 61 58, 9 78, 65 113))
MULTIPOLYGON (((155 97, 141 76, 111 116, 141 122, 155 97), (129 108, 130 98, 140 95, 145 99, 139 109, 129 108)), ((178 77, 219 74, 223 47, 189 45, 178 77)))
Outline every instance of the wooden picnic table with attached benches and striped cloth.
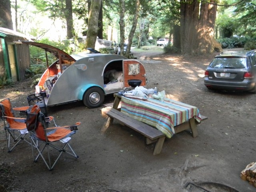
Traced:
POLYGON ((195 138, 198 136, 196 125, 207 119, 196 107, 170 99, 160 102, 155 99, 126 98, 118 94, 114 94, 114 97, 112 107, 102 108, 102 116, 107 118, 102 132, 116 119, 146 136, 146 144, 156 142, 153 155, 161 152, 165 137, 170 138, 190 128, 195 138))

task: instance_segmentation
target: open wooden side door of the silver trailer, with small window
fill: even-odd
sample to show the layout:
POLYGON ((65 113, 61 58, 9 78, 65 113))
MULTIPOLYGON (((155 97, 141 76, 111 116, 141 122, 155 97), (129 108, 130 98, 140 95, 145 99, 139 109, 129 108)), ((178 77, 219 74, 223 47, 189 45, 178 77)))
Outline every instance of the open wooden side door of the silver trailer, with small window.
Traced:
POLYGON ((130 79, 140 79, 142 80, 140 86, 146 86, 146 72, 142 63, 137 60, 123 60, 123 70, 124 87, 129 87, 130 79))

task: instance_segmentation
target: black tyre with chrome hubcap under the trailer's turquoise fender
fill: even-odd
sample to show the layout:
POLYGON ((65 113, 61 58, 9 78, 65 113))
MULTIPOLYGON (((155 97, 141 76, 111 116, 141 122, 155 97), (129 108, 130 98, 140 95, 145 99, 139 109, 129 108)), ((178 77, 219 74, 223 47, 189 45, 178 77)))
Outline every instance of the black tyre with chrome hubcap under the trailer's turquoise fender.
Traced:
POLYGON ((96 108, 102 105, 104 97, 104 92, 101 88, 92 87, 84 93, 83 103, 88 108, 96 108))

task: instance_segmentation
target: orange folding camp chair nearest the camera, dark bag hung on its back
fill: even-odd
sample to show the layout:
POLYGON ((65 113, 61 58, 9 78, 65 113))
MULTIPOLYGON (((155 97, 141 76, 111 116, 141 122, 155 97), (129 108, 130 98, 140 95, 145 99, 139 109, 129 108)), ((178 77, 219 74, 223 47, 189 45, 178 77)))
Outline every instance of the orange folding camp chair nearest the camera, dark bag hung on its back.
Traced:
POLYGON ((30 108, 27 110, 27 114, 26 126, 28 130, 33 130, 33 134, 30 136, 30 138, 33 146, 36 146, 37 150, 36 154, 34 152, 34 147, 32 146, 34 162, 37 162, 38 158, 42 157, 47 168, 52 170, 63 152, 78 158, 69 142, 71 136, 78 130, 77 126, 80 125, 80 122, 77 122, 72 126, 46 128, 44 114, 40 111, 40 108, 37 105, 30 106, 30 108), (43 146, 39 147, 38 144, 40 143, 43 146), (61 144, 62 147, 57 146, 58 143, 61 144), (66 149, 66 147, 68 149, 66 149), (51 148, 56 149, 56 152, 59 153, 53 164, 51 162, 50 155, 51 148), (44 156, 48 156, 48 160, 46 160, 44 156))

